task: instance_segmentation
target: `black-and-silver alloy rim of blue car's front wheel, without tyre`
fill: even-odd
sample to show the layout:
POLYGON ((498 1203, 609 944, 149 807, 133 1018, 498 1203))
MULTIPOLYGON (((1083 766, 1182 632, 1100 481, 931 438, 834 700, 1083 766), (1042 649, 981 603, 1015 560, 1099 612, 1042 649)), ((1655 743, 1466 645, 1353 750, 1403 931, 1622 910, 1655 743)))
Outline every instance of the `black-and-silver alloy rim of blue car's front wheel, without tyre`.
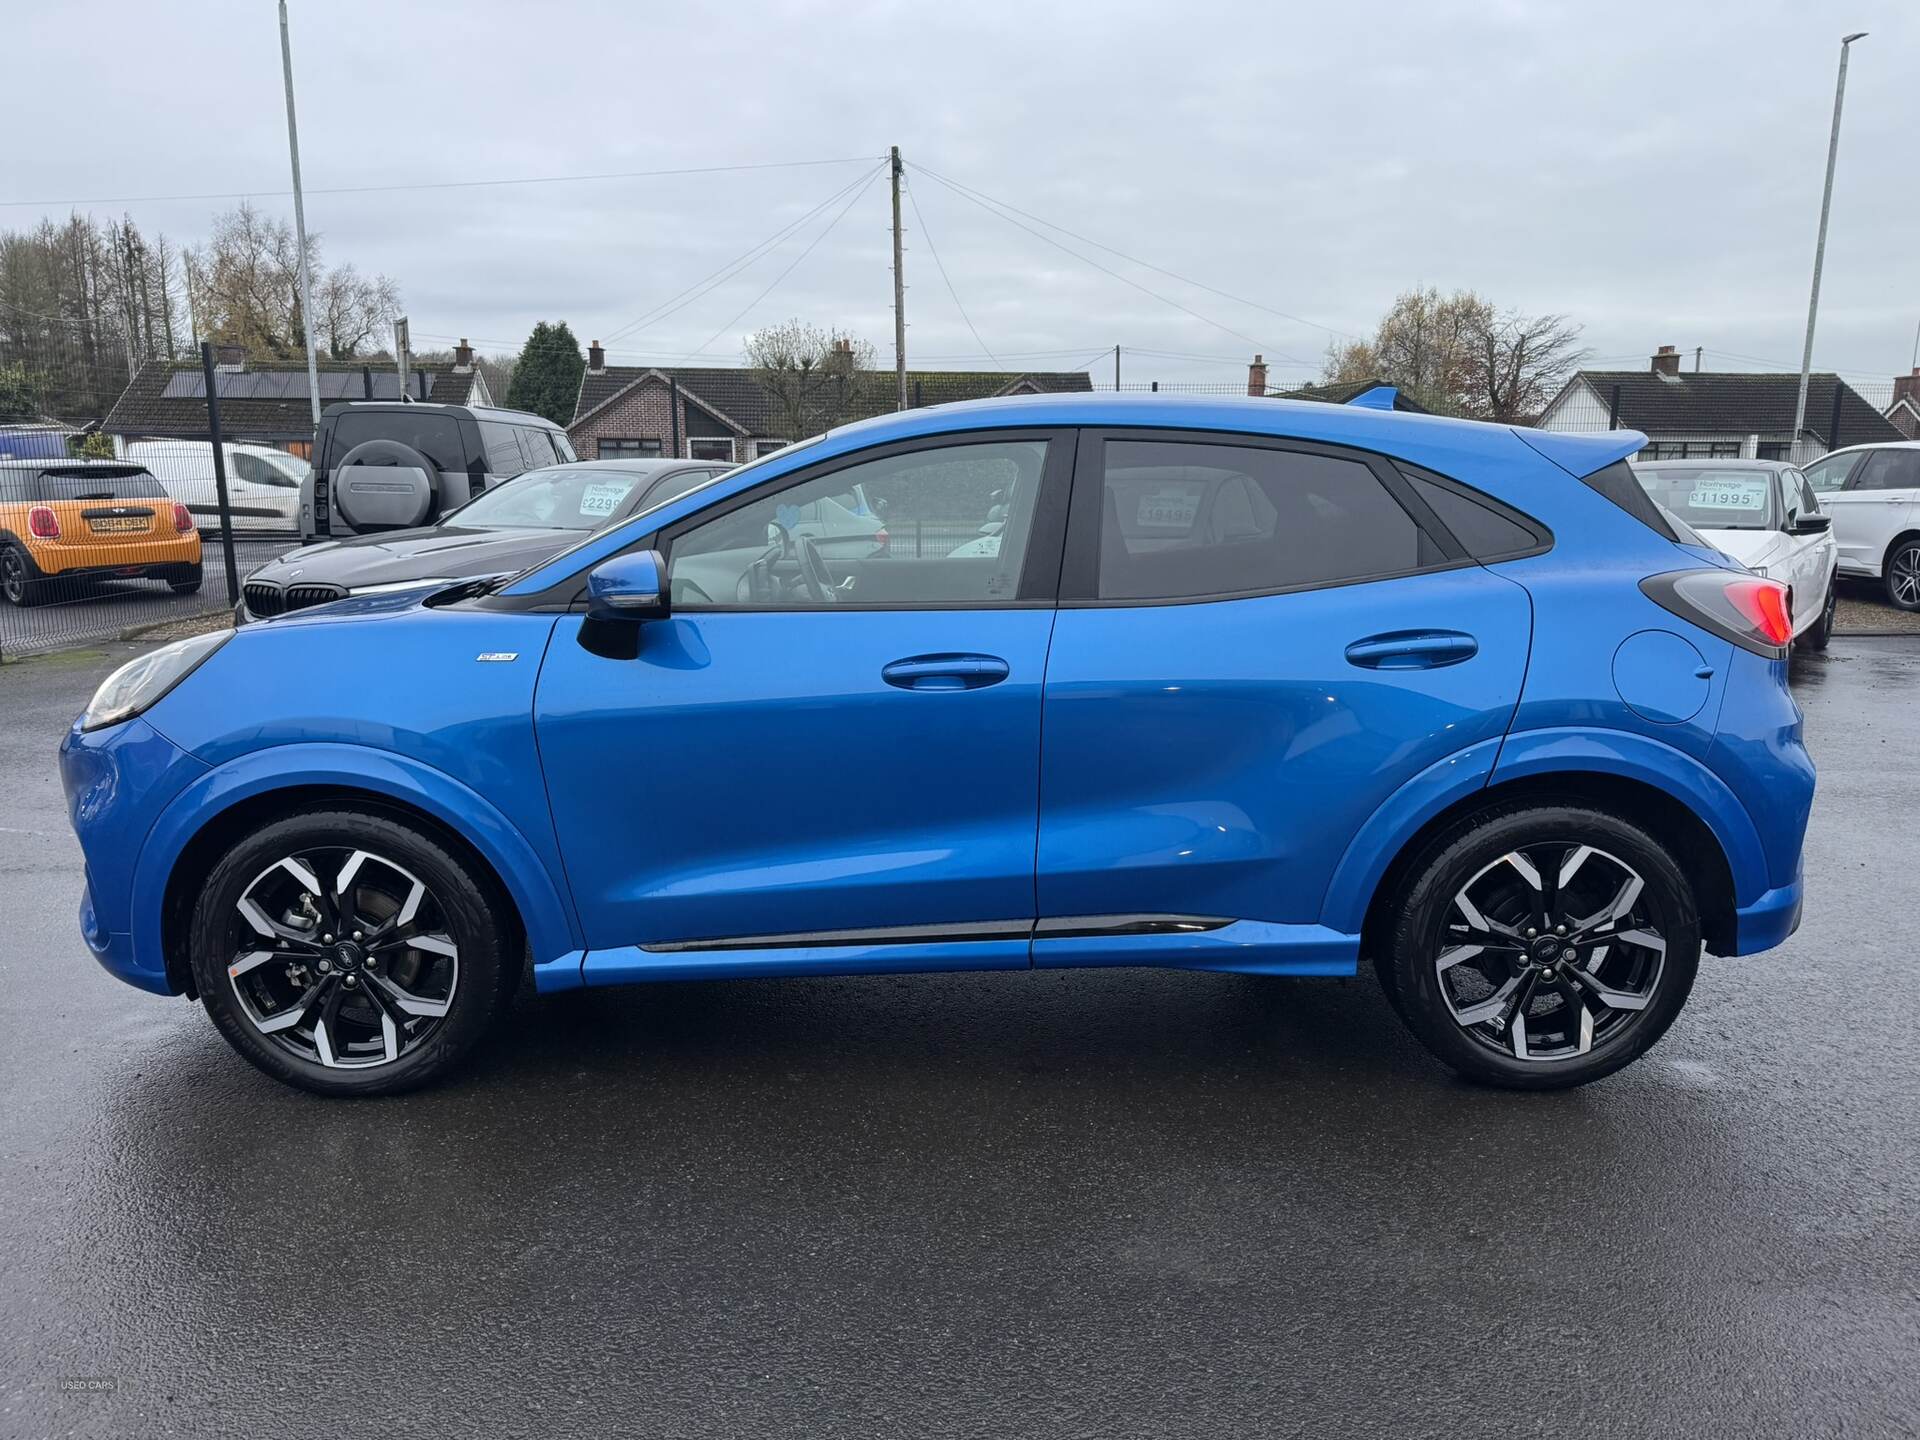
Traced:
POLYGON ((453 1008, 459 947, 409 870, 346 847, 300 851, 240 893, 227 979, 240 1012, 332 1069, 390 1066, 453 1008))

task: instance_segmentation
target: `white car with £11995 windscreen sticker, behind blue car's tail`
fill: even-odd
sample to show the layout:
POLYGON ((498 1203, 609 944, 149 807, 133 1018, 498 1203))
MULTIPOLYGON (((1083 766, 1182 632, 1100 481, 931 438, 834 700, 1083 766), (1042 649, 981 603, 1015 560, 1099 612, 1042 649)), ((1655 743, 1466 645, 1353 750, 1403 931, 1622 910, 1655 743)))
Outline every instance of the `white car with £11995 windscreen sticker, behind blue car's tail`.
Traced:
POLYGON ((1753 574, 1782 582, 1793 637, 1818 651, 1834 634, 1834 518, 1786 461, 1636 461, 1642 488, 1753 574))

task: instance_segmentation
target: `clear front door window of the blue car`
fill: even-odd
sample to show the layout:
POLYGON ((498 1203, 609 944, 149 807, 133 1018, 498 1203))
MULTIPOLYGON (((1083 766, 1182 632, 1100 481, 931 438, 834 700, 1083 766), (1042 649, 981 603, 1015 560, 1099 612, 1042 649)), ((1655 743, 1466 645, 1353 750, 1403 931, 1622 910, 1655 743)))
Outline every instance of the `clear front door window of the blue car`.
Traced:
POLYGON ((697 524, 670 547, 674 605, 1004 605, 1020 593, 1044 440, 849 465, 697 524))

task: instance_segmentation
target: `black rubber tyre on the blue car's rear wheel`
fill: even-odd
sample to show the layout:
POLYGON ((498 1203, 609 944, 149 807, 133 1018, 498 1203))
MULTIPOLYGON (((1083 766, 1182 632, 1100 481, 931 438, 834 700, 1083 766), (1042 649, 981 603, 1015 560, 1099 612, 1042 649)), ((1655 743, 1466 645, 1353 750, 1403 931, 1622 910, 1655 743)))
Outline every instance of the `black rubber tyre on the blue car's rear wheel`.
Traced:
MULTIPOLYGON (((1576 864, 1576 879, 1572 881, 1576 885, 1611 879, 1611 872, 1605 870, 1586 876, 1580 876, 1580 870, 1582 866, 1576 864)), ((1569 885, 1571 891, 1572 885, 1569 885)), ((1626 893, 1624 883, 1619 893, 1626 893)), ((1423 849, 1407 868, 1398 893, 1388 897, 1388 904, 1392 906, 1388 914, 1394 918, 1384 929, 1380 952, 1375 954, 1380 989, 1407 1029, 1442 1064, 1484 1085, 1559 1091, 1611 1075, 1645 1054, 1667 1033, 1686 1004, 1699 968, 1699 908, 1693 889, 1672 854, 1638 826, 1580 804, 1519 803, 1463 820, 1423 849), (1571 1052, 1571 1046, 1580 1043, 1582 1033, 1572 1021, 1578 1010, 1571 996, 1584 996, 1590 991, 1590 985, 1580 981, 1574 970, 1588 968, 1596 947, 1582 943, 1578 960, 1555 962, 1557 970, 1553 972, 1536 970, 1524 952, 1528 947, 1548 945, 1551 933, 1548 927, 1536 941, 1523 941, 1526 931, 1519 931, 1517 943, 1507 947, 1521 950, 1515 958, 1496 952, 1492 941, 1498 937, 1494 935, 1488 935, 1490 945, 1480 956, 1475 956, 1471 966, 1453 962, 1457 968, 1446 970, 1442 958, 1453 948, 1450 941, 1459 939, 1457 931, 1469 929, 1455 899, 1465 895, 1469 885, 1490 876, 1515 852, 1523 852, 1523 856, 1553 854, 1559 849, 1563 856, 1571 856, 1578 847, 1590 847, 1592 854, 1601 856, 1601 864, 1617 864, 1642 881, 1634 891, 1638 899, 1632 900, 1630 914, 1622 916, 1609 935, 1596 937, 1597 948, 1607 950, 1613 958, 1603 958, 1594 970, 1603 977, 1609 972, 1599 966, 1628 964, 1642 968, 1647 979, 1630 996, 1624 991, 1605 991, 1617 998, 1638 1000, 1644 1008, 1615 1008, 1597 998, 1584 1002, 1584 1008, 1597 1014, 1599 1020, 1586 1029, 1590 1048, 1571 1052), (1647 920, 1624 929, 1638 916, 1647 916, 1647 920), (1651 947, 1638 941, 1628 943, 1636 935, 1663 939, 1665 952, 1655 958, 1651 947), (1461 979, 1480 979, 1482 966, 1488 972, 1505 966, 1509 972, 1505 983, 1521 987, 1517 993, 1524 998, 1523 1008, 1528 1018, 1513 1016, 1511 998, 1507 1014, 1519 1020, 1523 1035, 1530 1031, 1532 1020, 1542 1012, 1540 1023, 1548 1027, 1565 1023, 1567 1054, 1521 1058, 1515 1052, 1509 1025, 1488 1029, 1490 1021, 1469 1025, 1455 1018, 1452 987, 1459 985, 1461 979), (1444 970, 1450 979, 1442 979, 1444 970), (1536 975, 1532 985, 1524 981, 1524 973, 1536 975), (1455 975, 1461 979, 1453 979, 1455 975), (1555 979, 1546 981, 1544 975, 1555 979)), ((1482 924, 1488 920, 1490 916, 1482 916, 1482 924)), ((1551 943, 1561 945, 1561 941, 1551 943)), ((1459 948, 1476 947, 1461 945, 1459 948)), ((1488 1008, 1505 993, 1490 977, 1486 983, 1492 993, 1480 996, 1476 1004, 1465 1004, 1469 1016, 1476 1008, 1488 1008)), ((1605 983, 1613 985, 1615 981, 1605 983)), ((1592 989, 1601 987, 1596 983, 1592 989)), ((1496 1012, 1490 1020, 1498 1018, 1496 1012)))

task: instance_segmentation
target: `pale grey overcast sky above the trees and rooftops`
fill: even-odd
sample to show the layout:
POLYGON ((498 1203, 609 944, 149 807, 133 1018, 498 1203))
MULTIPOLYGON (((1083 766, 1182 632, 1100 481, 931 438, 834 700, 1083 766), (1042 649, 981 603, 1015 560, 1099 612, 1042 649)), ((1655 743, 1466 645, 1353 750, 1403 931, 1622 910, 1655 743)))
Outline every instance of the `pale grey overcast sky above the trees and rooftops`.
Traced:
MULTIPOLYGON (((108 202, 250 190, 292 213, 273 0, 0 12, 0 202, 94 202, 180 240, 232 202, 108 202)), ((1920 324, 1912 0, 292 0, 292 27, 307 223, 399 282, 417 349, 509 348, 540 319, 609 338, 899 144, 916 365, 991 367, 983 342, 1004 369, 1069 369, 1119 344, 1165 351, 1127 380, 1242 380, 1254 349, 1286 378, 1434 284, 1563 311, 1597 365, 1674 344, 1795 369, 1855 29, 1814 365, 1884 382, 1920 324), (820 159, 851 163, 324 194, 820 159), (1164 303, 916 165, 1236 300, 1021 219, 1185 311, 1164 303)), ((42 213, 67 205, 0 225, 42 213)), ((881 177, 609 349, 735 363, 747 330, 803 317, 891 361, 887 267, 881 177)))

